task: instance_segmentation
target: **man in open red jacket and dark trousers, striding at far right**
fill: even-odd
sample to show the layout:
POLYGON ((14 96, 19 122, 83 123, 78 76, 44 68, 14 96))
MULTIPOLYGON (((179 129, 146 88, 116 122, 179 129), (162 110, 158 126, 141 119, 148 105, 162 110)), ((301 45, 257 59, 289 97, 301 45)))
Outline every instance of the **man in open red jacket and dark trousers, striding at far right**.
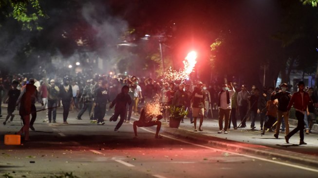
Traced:
POLYGON ((298 84, 299 91, 295 92, 290 99, 289 105, 287 107, 287 110, 289 111, 292 105, 294 105, 296 109, 296 117, 298 120, 297 127, 294 128, 291 132, 289 132, 288 135, 285 136, 285 140, 287 143, 289 143, 289 139, 299 131, 299 137, 300 137, 300 142, 299 145, 301 144, 307 144, 304 142, 304 128, 305 128, 305 123, 304 123, 304 116, 305 113, 307 112, 307 115, 309 115, 308 112, 308 104, 310 102, 310 96, 307 92, 304 91, 305 84, 303 81, 300 81, 298 84))

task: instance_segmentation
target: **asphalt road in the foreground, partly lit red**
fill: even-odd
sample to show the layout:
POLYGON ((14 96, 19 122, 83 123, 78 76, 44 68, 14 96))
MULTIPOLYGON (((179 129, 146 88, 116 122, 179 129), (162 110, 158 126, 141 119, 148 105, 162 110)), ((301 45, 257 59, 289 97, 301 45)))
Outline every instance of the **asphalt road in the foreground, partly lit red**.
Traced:
MULTIPOLYGON (((8 173, 13 178, 56 178, 70 173, 80 178, 317 178, 318 175, 315 168, 228 152, 165 134, 163 139, 154 139, 153 128, 138 128, 139 138, 133 139, 131 124, 124 123, 120 132, 114 132, 116 123, 90 124, 87 114, 78 121, 76 113, 70 113, 69 125, 62 125, 61 113, 59 109, 57 124, 51 124, 43 122, 46 112, 39 112, 36 131, 30 132, 31 141, 18 146, 4 145, 3 136, 18 131, 20 121, 15 118, 12 123, 0 125, 0 177, 8 173)), ((107 115, 106 119, 109 118, 107 115)))

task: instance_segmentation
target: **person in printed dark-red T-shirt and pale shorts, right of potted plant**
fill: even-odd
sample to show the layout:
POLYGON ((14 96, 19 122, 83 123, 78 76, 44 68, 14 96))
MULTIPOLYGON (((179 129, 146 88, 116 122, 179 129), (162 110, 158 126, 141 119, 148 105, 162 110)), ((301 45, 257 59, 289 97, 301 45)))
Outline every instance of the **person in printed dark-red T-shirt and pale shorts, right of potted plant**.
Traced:
POLYGON ((200 125, 199 125, 199 131, 203 131, 201 128, 202 123, 203 123, 203 116, 204 116, 204 111, 206 109, 206 104, 205 104, 205 99, 206 95, 205 92, 202 90, 203 83, 198 82, 197 87, 194 89, 192 92, 191 96, 191 110, 192 110, 192 116, 194 119, 194 131, 197 130, 197 118, 200 116, 200 125))

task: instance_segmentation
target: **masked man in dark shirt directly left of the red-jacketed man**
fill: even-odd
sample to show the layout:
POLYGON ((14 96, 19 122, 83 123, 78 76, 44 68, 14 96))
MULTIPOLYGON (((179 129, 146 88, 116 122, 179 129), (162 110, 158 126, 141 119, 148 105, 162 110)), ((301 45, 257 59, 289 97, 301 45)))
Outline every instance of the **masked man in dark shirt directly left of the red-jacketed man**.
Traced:
POLYGON ((286 135, 289 133, 289 113, 288 113, 288 104, 291 98, 291 93, 287 91, 287 84, 281 84, 281 91, 275 95, 275 99, 278 100, 278 112, 277 112, 277 124, 276 124, 276 133, 274 137, 278 139, 281 127, 281 120, 284 119, 286 135))

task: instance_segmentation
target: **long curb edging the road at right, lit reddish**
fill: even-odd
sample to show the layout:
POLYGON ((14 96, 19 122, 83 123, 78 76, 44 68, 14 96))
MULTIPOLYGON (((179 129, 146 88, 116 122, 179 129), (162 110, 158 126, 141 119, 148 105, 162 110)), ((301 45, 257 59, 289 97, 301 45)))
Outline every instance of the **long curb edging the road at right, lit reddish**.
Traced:
POLYGON ((170 129, 168 127, 163 128, 163 131, 169 135, 173 135, 178 138, 190 140, 192 142, 200 142, 210 144, 216 148, 226 148, 226 150, 237 152, 260 155, 268 158, 269 160, 282 160, 289 161, 296 164, 307 165, 311 167, 318 167, 318 160, 312 155, 300 154, 292 151, 281 150, 277 148, 270 148, 267 146, 236 142, 226 139, 221 139, 213 136, 200 135, 198 133, 192 133, 184 129, 170 129), (311 158, 311 159, 309 159, 311 158))

